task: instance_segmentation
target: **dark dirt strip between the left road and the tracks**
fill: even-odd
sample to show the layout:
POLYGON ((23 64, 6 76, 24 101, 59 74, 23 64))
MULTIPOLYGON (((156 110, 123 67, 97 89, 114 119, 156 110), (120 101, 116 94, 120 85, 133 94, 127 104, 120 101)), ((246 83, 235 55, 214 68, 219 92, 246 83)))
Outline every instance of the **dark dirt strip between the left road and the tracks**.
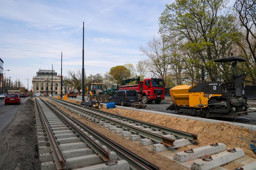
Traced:
POLYGON ((0 169, 40 169, 34 102, 27 99, 0 136, 0 169))

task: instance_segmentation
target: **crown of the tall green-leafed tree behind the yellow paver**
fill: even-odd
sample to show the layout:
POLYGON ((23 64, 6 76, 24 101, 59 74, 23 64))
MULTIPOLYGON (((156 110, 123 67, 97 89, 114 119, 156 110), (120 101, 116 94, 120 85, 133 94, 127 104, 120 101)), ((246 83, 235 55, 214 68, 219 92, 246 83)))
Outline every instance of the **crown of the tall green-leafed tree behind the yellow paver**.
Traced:
MULTIPOLYGON (((171 5, 166 5, 159 18, 159 32, 175 40, 177 49, 186 49, 188 53, 182 55, 190 58, 192 63, 196 64, 195 67, 200 68, 200 65, 204 65, 212 81, 213 75, 217 75, 216 63, 212 60, 230 55, 230 46, 241 36, 233 24, 234 15, 225 6, 227 2, 177 0, 171 5)), ((224 68, 223 66, 224 74, 229 74, 229 70, 224 68)), ((192 73, 191 71, 189 72, 192 73)), ((194 73, 198 74, 197 71, 194 73)))

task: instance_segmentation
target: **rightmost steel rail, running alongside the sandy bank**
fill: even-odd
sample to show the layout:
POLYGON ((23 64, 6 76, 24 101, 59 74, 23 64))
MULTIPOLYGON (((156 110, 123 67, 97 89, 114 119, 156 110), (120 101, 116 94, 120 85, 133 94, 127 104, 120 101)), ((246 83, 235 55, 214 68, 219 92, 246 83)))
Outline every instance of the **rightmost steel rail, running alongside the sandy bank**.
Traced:
MULTIPOLYGON (((193 140, 193 141, 198 140, 198 135, 192 134, 192 133, 189 133, 189 132, 184 132, 184 131, 180 131, 180 130, 177 130, 177 129, 163 127, 163 126, 160 126, 160 125, 157 125, 157 124, 148 123, 148 122, 137 120, 137 119, 132 119, 132 118, 129 118, 129 117, 117 115, 117 114, 106 112, 106 111, 103 111, 103 110, 98 110, 98 109, 90 108, 90 107, 87 107, 87 106, 82 106, 82 105, 74 104, 74 103, 71 103, 71 102, 68 102, 68 101, 63 101, 63 100, 60 100, 60 99, 55 99, 55 98, 50 98, 50 99, 54 99, 55 101, 58 101, 58 102, 61 102, 61 103, 68 103, 68 104, 70 104, 72 106, 77 106, 77 107, 79 107, 79 109, 86 108, 86 109, 89 109, 89 110, 93 110, 95 112, 99 112, 99 113, 103 113, 103 114, 104 113, 108 114, 109 116, 113 116, 113 117, 116 117, 118 119, 129 120, 132 123, 139 124, 139 125, 142 124, 142 126, 145 126, 145 127, 148 127, 148 128, 152 128, 152 129, 154 129, 156 131, 159 130, 159 131, 165 132, 167 134, 172 134, 172 135, 175 135, 175 136, 180 136, 181 138, 186 138, 186 139, 193 140)), ((74 109, 77 109, 77 108, 74 108, 74 109)), ((84 109, 82 109, 82 110, 84 110, 84 109)))

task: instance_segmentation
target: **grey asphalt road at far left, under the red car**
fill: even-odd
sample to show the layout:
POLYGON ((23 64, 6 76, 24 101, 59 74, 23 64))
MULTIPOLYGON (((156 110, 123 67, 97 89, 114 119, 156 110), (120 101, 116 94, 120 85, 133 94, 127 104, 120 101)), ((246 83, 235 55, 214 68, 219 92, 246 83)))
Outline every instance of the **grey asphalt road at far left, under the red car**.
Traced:
POLYGON ((6 105, 4 104, 4 99, 0 100, 0 134, 2 134, 3 130, 6 130, 12 121, 15 119, 15 116, 21 106, 25 103, 27 98, 21 98, 21 104, 12 104, 6 105))

